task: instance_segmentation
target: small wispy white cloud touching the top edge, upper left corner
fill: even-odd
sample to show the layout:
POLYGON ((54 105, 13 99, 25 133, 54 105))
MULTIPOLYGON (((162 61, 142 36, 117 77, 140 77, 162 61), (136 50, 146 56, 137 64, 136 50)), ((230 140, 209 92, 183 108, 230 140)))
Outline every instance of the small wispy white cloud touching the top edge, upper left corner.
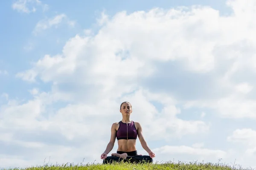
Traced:
POLYGON ((12 4, 12 8, 18 12, 31 13, 37 10, 37 7, 40 6, 43 11, 48 10, 48 5, 42 3, 40 0, 16 0, 12 4))

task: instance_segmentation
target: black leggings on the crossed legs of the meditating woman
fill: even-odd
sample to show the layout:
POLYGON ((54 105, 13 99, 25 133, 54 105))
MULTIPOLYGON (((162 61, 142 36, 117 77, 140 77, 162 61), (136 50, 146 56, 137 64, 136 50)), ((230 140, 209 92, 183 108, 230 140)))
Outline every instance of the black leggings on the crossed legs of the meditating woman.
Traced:
POLYGON ((131 152, 122 152, 122 151, 117 151, 116 153, 122 154, 122 153, 127 153, 127 158, 122 159, 119 158, 118 156, 108 156, 106 159, 103 160, 103 164, 111 164, 113 161, 115 162, 130 162, 130 163, 152 163, 153 159, 148 156, 148 155, 138 155, 137 150, 131 151, 131 152))

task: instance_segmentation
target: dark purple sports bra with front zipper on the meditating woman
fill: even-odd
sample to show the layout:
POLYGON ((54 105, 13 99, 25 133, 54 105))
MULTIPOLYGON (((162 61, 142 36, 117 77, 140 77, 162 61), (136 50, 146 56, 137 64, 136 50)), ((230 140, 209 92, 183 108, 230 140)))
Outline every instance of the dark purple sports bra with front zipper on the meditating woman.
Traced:
POLYGON ((119 128, 116 131, 116 139, 137 139, 137 129, 135 127, 134 121, 131 123, 123 123, 122 121, 119 122, 119 128))

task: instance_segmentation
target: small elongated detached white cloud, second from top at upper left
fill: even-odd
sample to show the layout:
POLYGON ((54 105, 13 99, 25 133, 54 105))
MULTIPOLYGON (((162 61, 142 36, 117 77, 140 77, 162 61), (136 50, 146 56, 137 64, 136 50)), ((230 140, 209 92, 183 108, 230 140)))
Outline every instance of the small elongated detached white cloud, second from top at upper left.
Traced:
POLYGON ((34 34, 38 34, 41 31, 44 31, 46 29, 55 27, 58 28, 58 26, 65 21, 67 25, 73 27, 75 26, 75 21, 69 20, 65 14, 58 14, 52 18, 46 18, 44 20, 40 20, 33 31, 34 34))

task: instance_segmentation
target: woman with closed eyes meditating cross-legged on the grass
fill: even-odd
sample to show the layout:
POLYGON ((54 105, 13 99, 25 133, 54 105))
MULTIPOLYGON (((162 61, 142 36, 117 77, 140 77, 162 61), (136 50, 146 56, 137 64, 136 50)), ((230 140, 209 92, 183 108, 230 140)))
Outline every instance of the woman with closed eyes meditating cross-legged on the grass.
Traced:
POLYGON ((122 121, 113 123, 111 127, 111 139, 107 145, 106 150, 101 155, 103 163, 112 161, 127 161, 128 159, 132 162, 148 161, 152 162, 155 154, 149 149, 147 143, 144 140, 142 134, 142 127, 140 123, 130 120, 132 113, 132 106, 129 102, 123 102, 120 105, 120 112, 122 113, 122 121), (140 139, 141 146, 148 152, 149 156, 137 155, 136 150, 136 139, 140 139), (118 142, 118 149, 116 153, 112 153, 111 156, 107 156, 108 153, 113 149, 115 140, 118 142))

